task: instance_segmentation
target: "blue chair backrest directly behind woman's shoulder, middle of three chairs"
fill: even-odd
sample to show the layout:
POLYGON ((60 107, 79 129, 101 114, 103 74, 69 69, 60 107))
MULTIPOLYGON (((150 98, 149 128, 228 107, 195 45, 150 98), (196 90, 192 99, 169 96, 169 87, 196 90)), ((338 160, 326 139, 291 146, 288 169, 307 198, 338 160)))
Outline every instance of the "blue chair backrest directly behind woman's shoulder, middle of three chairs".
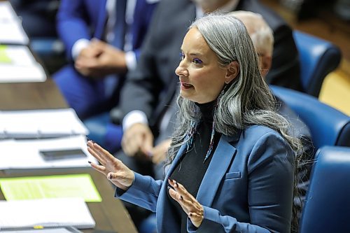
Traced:
POLYGON ((309 94, 274 85, 270 87, 309 127, 316 150, 322 146, 350 146, 348 115, 321 103, 309 94))

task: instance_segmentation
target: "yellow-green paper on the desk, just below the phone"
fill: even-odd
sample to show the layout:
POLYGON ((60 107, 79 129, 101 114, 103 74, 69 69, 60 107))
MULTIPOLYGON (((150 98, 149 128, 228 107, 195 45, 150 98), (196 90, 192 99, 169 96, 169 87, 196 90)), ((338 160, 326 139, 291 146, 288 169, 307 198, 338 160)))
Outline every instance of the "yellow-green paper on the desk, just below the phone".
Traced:
POLYGON ((102 202, 90 174, 0 178, 6 200, 82 197, 85 202, 102 202))

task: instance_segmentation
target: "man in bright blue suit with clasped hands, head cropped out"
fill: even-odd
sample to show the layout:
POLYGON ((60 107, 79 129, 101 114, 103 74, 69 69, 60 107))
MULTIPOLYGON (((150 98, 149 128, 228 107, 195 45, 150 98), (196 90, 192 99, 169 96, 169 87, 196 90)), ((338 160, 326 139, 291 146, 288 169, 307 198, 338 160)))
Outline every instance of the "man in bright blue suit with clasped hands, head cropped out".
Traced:
POLYGON ((53 78, 80 118, 118 103, 125 73, 137 64, 158 1, 62 1, 57 31, 70 64, 53 78))

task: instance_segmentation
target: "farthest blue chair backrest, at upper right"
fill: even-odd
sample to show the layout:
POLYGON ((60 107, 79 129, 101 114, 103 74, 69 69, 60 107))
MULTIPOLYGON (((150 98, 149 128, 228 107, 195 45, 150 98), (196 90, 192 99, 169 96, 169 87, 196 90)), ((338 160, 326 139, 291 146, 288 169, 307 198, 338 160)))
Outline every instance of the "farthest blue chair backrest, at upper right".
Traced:
POLYGON ((323 79, 335 70, 342 57, 337 46, 321 38, 294 31, 300 56, 300 78, 305 93, 318 97, 323 79))

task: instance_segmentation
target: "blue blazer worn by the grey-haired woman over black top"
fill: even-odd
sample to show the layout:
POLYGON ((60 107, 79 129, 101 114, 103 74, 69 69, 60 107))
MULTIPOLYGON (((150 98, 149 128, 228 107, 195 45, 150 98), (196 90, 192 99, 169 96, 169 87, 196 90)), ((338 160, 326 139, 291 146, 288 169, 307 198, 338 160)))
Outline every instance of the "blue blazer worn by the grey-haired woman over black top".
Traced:
MULTIPOLYGON (((164 181, 135 173, 132 186, 116 197, 156 212, 157 230, 181 232, 164 181)), ((290 232, 293 205, 294 152, 280 134, 254 125, 234 136, 221 136, 197 193, 204 206, 198 229, 188 219, 188 232, 290 232)), ((185 187, 186 188, 186 187, 185 187)))

